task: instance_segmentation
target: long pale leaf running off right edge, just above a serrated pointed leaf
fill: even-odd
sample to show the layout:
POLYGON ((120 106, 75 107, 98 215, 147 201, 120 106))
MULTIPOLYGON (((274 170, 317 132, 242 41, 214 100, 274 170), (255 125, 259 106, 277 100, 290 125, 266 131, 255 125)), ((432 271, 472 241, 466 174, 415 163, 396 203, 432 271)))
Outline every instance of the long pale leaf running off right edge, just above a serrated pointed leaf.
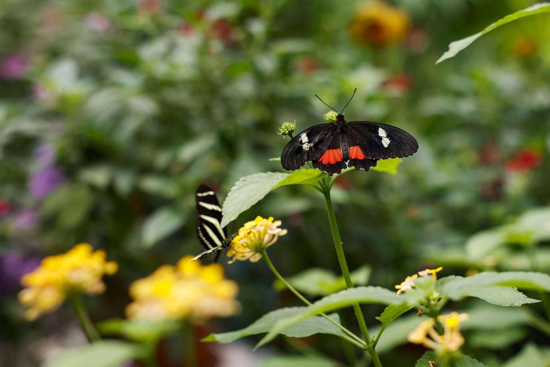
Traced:
MULTIPOLYGON (((453 300, 460 300, 488 286, 508 286, 531 291, 550 291, 550 275, 537 272, 486 272, 448 282, 443 292, 453 300)), ((482 289, 483 291, 483 289, 482 289)))

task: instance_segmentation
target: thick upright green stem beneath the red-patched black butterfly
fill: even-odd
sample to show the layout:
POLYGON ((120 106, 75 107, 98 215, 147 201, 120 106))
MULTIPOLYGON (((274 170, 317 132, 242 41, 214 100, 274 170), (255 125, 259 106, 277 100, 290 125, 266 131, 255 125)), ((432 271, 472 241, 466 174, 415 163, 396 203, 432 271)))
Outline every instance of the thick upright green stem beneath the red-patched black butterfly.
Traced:
MULTIPOLYGON (((334 207, 332 206, 331 200, 331 186, 329 185, 328 180, 324 180, 322 183, 324 201, 327 204, 328 220, 331 223, 332 237, 334 239, 334 246, 336 247, 336 253, 338 255, 338 261, 340 262, 340 269, 342 269, 342 275, 344 276, 345 284, 347 288, 353 287, 351 282, 351 276, 348 269, 348 264, 345 260, 344 248, 342 247, 342 240, 340 240, 340 233, 338 232, 338 224, 336 223, 336 216, 334 215, 334 207)), ((382 367, 378 355, 376 354, 375 348, 372 346, 372 340, 370 335, 368 335, 367 324, 365 323, 365 317, 361 311, 361 306, 359 303, 353 304, 353 309, 355 311, 355 316, 357 317, 357 322, 359 322, 359 327, 363 334, 363 338, 366 343, 366 350, 368 354, 371 355, 372 361, 376 367, 382 367)))

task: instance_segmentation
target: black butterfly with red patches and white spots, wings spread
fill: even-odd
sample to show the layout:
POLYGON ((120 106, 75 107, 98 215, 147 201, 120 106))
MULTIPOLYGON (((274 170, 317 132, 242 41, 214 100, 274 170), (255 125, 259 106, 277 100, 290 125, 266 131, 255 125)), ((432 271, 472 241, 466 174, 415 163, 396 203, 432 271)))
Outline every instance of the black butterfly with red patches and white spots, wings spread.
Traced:
POLYGON ((311 161, 313 168, 332 176, 346 167, 368 171, 378 160, 408 157, 418 150, 416 139, 404 130, 372 121, 346 122, 342 112, 337 112, 334 123, 315 125, 294 136, 283 149, 283 168, 295 171, 311 161))

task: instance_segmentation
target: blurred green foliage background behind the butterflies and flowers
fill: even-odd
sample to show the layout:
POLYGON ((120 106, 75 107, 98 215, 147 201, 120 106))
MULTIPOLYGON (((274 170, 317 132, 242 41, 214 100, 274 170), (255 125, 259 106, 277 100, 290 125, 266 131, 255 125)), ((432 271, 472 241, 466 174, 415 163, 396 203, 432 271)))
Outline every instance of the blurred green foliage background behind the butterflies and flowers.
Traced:
MULTIPOLYGON (((0 56, 21 53, 29 64, 20 78, 0 80, 0 198, 11 206, 0 217, 1 253, 43 256, 79 242, 106 249, 120 271, 107 279, 105 295, 89 300, 92 318, 122 316, 131 281, 199 253, 193 194, 200 183, 215 187, 223 200, 240 177, 282 172, 280 162, 269 160, 288 141, 275 133, 282 122, 296 120, 299 130, 323 123, 327 108, 314 94, 343 106, 357 87, 348 120, 397 125, 416 137, 420 149, 395 176, 350 172, 335 183, 350 269, 370 265, 369 283, 385 288, 439 265, 443 275, 550 272, 548 209, 534 228, 532 218, 520 217, 550 202, 549 15, 494 30, 436 66, 450 41, 533 2, 393 4, 409 14, 414 32, 396 45, 368 48, 348 34, 355 1, 167 1, 147 11, 129 0, 4 0, 0 56), (93 12, 107 19, 108 29, 93 29, 93 12), (521 40, 536 45, 529 56, 514 53, 521 40), (401 83, 395 89, 388 80, 401 83), (53 148, 66 180, 38 200, 27 182, 43 144, 53 148), (507 169, 522 148, 538 152, 540 165, 507 169), (497 156, 490 163, 487 150, 497 156), (37 211, 40 220, 21 230, 14 215, 25 209, 37 211), (471 236, 487 229, 490 240, 472 244, 471 236)), ((270 250, 279 271, 290 276, 321 267, 338 273, 323 209, 316 190, 289 185, 229 228, 256 215, 274 216, 289 230, 270 250)), ((297 304, 274 291, 265 266, 226 269, 239 283, 244 313, 214 322, 211 331, 237 330, 276 306, 297 304)), ((0 298, 7 361, 52 330, 61 333, 59 320, 73 317, 61 310, 27 324, 15 292, 0 298)), ((383 307, 365 309, 373 320, 383 307)), ((514 330, 496 347, 487 332, 466 333, 465 350, 492 366, 527 340, 548 342, 537 331, 514 330)), ((328 337, 317 338, 343 358, 328 337)), ((413 365, 423 352, 405 346, 385 355, 384 365, 413 365)), ((20 365, 36 365, 36 358, 20 365)))

